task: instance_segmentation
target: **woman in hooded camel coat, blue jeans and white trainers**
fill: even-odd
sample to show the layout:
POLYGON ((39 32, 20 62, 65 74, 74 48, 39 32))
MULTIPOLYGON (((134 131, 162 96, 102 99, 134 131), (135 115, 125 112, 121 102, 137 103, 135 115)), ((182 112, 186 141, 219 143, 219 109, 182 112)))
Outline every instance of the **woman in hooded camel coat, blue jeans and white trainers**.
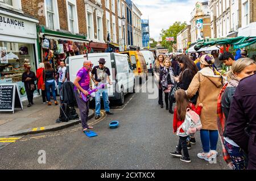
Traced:
POLYGON ((200 119, 203 128, 200 131, 203 153, 197 157, 209 161, 217 156, 218 128, 217 128, 217 98, 222 88, 222 77, 214 68, 214 58, 205 54, 200 58, 201 70, 192 79, 187 95, 192 98, 199 92, 197 105, 203 103, 200 119))

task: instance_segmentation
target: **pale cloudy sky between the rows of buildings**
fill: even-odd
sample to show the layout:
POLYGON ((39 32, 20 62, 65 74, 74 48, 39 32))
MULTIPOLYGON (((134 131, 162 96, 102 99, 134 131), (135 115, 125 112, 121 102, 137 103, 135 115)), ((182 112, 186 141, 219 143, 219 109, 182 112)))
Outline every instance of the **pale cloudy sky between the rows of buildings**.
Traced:
POLYGON ((174 22, 190 24, 190 14, 197 1, 199 0, 133 0, 133 3, 142 12, 142 19, 149 19, 150 37, 158 41, 161 30, 166 30, 174 22))

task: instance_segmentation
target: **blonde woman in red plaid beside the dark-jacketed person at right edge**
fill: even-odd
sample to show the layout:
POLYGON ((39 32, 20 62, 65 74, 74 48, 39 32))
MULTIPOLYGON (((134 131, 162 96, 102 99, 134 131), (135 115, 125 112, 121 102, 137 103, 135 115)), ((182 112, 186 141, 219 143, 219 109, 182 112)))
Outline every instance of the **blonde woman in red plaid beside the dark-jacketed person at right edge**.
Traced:
POLYGON ((232 65, 228 73, 228 83, 223 87, 218 96, 218 132, 224 146, 224 160, 234 170, 245 170, 247 167, 247 155, 245 152, 226 135, 226 120, 228 120, 230 106, 234 92, 241 79, 256 73, 256 64, 250 58, 240 58, 232 65))

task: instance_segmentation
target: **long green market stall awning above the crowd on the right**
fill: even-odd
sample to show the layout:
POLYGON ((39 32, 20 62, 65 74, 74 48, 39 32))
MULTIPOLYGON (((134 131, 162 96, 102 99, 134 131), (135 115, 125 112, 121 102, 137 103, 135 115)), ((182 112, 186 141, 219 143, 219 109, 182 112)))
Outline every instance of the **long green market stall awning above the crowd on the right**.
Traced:
POLYGON ((238 37, 229 37, 229 38, 223 38, 223 39, 210 39, 210 41, 200 40, 195 45, 195 50, 199 50, 200 48, 209 47, 213 45, 234 45, 234 44, 240 44, 247 40, 249 40, 250 37, 245 36, 238 36, 238 37))

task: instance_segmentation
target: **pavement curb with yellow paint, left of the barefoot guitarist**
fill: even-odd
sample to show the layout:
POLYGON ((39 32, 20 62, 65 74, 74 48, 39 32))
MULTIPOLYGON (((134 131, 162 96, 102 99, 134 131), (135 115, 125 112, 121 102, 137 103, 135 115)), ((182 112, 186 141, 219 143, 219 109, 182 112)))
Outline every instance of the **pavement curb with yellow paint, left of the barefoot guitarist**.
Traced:
MULTIPOLYGON (((94 116, 94 111, 90 110, 88 120, 92 119, 93 116, 94 116)), ((51 131, 59 131, 61 129, 72 127, 73 125, 76 125, 79 123, 81 123, 81 120, 70 120, 67 123, 58 123, 58 124, 50 125, 47 127, 23 129, 17 132, 9 132, 6 134, 0 133, 0 136, 23 136, 27 134, 38 134, 38 133, 45 133, 45 132, 51 132, 51 131)))

